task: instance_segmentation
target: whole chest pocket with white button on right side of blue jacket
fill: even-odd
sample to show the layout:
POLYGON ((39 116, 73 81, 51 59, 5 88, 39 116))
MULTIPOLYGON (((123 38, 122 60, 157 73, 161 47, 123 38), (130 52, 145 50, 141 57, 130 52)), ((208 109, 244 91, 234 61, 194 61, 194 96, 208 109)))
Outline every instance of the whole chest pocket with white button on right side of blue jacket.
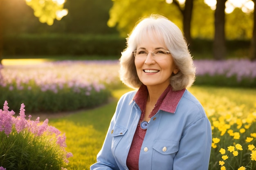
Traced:
POLYGON ((179 142, 157 139, 153 144, 152 170, 172 170, 179 142))

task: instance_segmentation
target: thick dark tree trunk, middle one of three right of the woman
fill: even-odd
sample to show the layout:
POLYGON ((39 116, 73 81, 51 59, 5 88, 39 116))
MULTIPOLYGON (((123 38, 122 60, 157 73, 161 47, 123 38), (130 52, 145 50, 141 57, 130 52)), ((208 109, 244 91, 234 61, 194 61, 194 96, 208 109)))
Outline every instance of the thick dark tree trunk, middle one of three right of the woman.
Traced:
POLYGON ((214 40, 213 40, 213 58, 222 60, 226 55, 225 45, 225 2, 227 0, 217 0, 214 13, 214 40))

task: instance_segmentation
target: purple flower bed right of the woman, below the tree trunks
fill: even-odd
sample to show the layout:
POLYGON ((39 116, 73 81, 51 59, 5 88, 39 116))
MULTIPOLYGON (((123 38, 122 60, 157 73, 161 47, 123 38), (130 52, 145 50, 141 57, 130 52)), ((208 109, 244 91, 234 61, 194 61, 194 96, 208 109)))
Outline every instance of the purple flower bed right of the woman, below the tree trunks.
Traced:
POLYGON ((256 61, 195 60, 195 84, 229 87, 256 87, 256 61))

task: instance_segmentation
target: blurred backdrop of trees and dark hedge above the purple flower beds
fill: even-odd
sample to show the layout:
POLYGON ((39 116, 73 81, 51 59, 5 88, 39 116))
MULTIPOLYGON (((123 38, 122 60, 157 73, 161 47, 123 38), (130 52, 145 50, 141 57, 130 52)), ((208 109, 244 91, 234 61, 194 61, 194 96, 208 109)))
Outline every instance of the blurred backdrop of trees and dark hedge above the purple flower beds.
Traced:
POLYGON ((127 34, 151 13, 184 31, 195 59, 256 58, 252 0, 0 0, 1 58, 118 59, 127 34))

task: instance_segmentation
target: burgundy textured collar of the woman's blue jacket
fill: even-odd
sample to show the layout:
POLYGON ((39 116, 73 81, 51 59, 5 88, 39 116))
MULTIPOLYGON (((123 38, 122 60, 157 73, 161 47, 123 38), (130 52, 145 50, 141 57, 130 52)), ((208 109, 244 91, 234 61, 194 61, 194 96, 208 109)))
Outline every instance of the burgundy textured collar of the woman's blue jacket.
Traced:
MULTIPOLYGON (((177 108, 178 103, 180 102, 180 99, 182 98, 185 88, 180 91, 173 91, 173 88, 171 85, 169 85, 166 90, 162 93, 162 95, 157 100, 157 103, 155 105, 155 112, 158 110, 163 110, 169 113, 175 113, 175 110, 177 108)), ((133 100, 137 103, 137 105, 140 108, 143 108, 146 106, 146 99, 148 98, 148 88, 144 84, 142 84, 133 97, 133 100)), ((141 110, 143 112, 143 110, 141 110)))

